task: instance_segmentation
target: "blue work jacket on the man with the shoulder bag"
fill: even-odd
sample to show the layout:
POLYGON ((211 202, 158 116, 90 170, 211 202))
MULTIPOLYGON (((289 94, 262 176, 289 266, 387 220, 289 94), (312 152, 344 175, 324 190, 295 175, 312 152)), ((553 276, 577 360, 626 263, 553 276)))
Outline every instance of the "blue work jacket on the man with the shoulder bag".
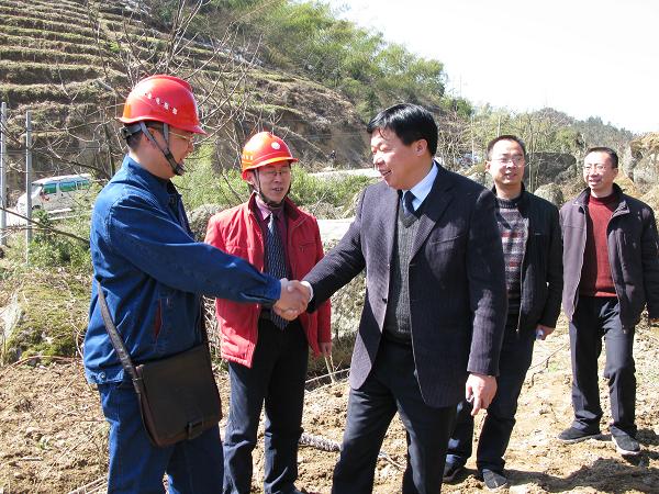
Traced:
POLYGON ((126 156, 91 216, 94 283, 85 337, 92 383, 123 380, 105 332, 96 280, 135 362, 178 353, 201 340, 200 294, 271 304, 280 284, 245 260, 194 242, 180 194, 126 156))

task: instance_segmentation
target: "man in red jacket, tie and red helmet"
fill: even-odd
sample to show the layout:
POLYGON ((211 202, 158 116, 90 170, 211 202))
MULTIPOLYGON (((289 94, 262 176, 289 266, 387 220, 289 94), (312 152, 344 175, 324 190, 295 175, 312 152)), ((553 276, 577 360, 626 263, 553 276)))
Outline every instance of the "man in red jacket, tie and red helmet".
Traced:
MULTIPOLYGON (((289 147, 269 132, 243 149, 243 179, 252 197, 209 222, 205 242, 249 260, 279 278, 302 279, 323 257, 317 222, 287 197, 289 147)), ((249 493, 252 451, 261 408, 266 407, 266 493, 298 493, 298 440, 309 346, 330 355, 330 303, 313 314, 286 321, 260 304, 215 301, 222 330, 222 357, 228 360, 231 404, 224 436, 224 493, 249 493)))

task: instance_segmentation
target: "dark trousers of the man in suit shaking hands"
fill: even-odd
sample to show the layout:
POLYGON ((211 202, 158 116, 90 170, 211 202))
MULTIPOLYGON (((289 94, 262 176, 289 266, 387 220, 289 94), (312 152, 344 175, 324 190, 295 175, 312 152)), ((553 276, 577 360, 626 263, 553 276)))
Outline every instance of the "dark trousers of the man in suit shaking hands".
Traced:
POLYGON ((334 494, 372 492, 378 453, 396 412, 407 431, 402 493, 440 491, 456 408, 426 405, 416 380, 412 348, 382 340, 366 382, 358 390, 350 390, 343 448, 334 470, 334 494))

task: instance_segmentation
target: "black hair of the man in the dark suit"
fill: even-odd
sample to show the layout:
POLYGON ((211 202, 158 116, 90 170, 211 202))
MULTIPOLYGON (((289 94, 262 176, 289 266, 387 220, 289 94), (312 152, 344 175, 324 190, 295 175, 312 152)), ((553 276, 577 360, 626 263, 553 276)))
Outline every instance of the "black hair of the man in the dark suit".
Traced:
POLYGON ((437 123, 433 114, 418 104, 400 103, 378 113, 366 126, 366 132, 390 130, 405 146, 425 139, 432 156, 437 153, 437 123))

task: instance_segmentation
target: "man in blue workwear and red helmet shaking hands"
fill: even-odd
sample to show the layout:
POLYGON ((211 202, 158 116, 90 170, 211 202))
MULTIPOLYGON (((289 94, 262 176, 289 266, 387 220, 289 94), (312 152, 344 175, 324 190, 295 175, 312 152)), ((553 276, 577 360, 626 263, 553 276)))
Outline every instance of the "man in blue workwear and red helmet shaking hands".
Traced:
POLYGON ((139 81, 124 105, 129 154, 99 194, 91 218, 94 283, 85 338, 85 371, 98 385, 110 423, 108 492, 222 491, 223 453, 217 426, 159 448, 149 442, 137 395, 124 374, 103 319, 96 281, 135 362, 160 359, 201 343, 200 295, 256 302, 286 316, 305 307, 293 283, 194 242, 181 197, 170 179, 183 172, 200 126, 190 86, 176 77, 139 81))

